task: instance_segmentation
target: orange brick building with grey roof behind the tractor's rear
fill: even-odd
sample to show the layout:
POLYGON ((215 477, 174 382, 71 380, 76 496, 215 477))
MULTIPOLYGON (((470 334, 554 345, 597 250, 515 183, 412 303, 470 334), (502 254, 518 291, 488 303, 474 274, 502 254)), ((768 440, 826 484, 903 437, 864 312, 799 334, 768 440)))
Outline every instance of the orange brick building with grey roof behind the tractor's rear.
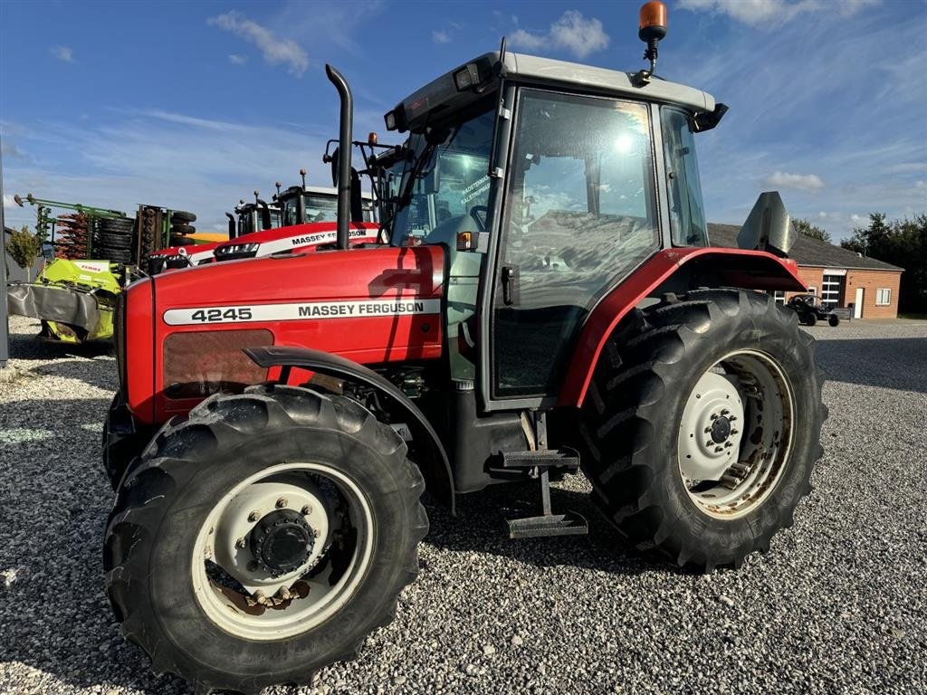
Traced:
MULTIPOLYGON (((737 246, 740 227, 709 224, 711 246, 737 246)), ((903 268, 859 256, 805 234, 798 234, 789 256, 798 263, 798 275, 808 292, 837 307, 852 305, 855 319, 895 319, 898 316, 898 284, 903 268)), ((796 293, 777 299, 788 300, 796 293)))

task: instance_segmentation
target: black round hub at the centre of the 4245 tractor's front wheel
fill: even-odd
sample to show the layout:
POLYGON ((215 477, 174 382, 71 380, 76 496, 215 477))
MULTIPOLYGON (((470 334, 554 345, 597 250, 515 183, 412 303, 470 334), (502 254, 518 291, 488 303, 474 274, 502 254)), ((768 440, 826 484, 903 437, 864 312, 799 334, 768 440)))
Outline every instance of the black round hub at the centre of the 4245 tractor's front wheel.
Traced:
POLYGON ((289 509, 264 516, 250 534, 258 566, 272 576, 286 575, 309 560, 315 537, 301 514, 289 509))

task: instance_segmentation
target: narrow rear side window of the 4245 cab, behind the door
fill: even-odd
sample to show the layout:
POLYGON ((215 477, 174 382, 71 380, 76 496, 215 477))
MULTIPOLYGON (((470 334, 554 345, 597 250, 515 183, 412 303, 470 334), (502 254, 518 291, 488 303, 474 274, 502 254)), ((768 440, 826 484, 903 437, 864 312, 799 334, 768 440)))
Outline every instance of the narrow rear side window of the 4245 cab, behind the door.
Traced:
POLYGON ((689 116, 676 108, 660 109, 667 162, 669 229, 673 246, 708 246, 702 184, 695 160, 695 139, 689 116))

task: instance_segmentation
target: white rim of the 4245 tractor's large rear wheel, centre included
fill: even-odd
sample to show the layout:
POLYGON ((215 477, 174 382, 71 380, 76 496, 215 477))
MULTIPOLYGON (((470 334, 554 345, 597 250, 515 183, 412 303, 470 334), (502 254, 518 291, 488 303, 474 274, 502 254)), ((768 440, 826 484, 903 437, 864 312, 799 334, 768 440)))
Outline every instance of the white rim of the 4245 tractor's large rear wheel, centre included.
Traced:
POLYGON ((789 382, 764 352, 732 352, 699 378, 677 448, 679 474, 700 512, 737 519, 768 499, 789 460, 793 417, 789 382))

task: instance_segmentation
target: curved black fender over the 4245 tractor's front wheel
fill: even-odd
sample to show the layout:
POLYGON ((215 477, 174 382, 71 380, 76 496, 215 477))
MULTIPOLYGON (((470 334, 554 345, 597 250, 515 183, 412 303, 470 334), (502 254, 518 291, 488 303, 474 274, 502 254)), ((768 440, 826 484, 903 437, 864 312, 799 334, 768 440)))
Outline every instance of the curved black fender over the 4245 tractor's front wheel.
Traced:
POLYGON ((376 391, 389 398, 401 411, 409 417, 409 428, 413 438, 425 444, 425 449, 432 449, 432 456, 420 463, 425 483, 429 491, 451 508, 451 514, 456 514, 454 479, 451 474, 451 461, 448 452, 431 426, 425 413, 406 396, 399 387, 369 367, 333 355, 322 350, 313 350, 310 347, 246 347, 245 354, 260 367, 283 367, 284 374, 281 381, 286 381, 288 370, 293 367, 306 369, 310 372, 333 376, 337 379, 354 384, 362 384, 375 388, 376 391))

